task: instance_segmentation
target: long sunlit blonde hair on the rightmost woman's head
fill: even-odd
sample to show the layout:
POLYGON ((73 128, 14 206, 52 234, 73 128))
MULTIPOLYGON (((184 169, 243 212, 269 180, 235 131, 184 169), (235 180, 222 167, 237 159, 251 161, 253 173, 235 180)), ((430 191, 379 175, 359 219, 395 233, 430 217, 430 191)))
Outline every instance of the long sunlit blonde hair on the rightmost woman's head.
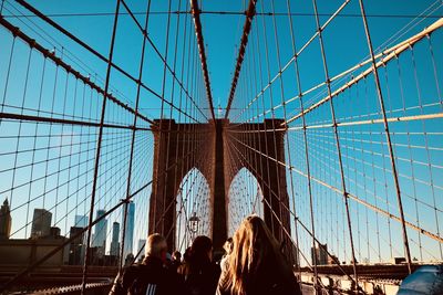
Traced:
POLYGON ((269 265, 286 274, 286 263, 278 241, 258 215, 247 217, 233 238, 233 249, 228 261, 227 284, 233 294, 245 294, 247 282, 254 282, 259 273, 265 273, 269 265), (285 271, 282 271, 286 268, 285 271))

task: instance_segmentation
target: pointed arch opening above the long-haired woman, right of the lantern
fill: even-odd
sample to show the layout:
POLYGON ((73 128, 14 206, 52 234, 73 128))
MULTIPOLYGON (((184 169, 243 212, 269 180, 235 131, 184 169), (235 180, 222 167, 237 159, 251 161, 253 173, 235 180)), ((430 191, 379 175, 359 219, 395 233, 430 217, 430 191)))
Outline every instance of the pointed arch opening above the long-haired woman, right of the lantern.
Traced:
POLYGON ((247 168, 241 168, 233 178, 228 191, 228 236, 234 235, 247 215, 264 218, 262 196, 257 178, 247 168))

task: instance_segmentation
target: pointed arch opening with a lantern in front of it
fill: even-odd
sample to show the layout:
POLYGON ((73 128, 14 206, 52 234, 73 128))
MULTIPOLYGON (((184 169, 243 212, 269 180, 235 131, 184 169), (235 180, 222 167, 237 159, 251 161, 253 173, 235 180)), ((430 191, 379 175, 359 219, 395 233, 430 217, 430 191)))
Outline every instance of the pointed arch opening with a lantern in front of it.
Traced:
POLYGON ((195 236, 210 236, 210 188, 197 168, 183 178, 176 200, 175 250, 183 253, 195 236))

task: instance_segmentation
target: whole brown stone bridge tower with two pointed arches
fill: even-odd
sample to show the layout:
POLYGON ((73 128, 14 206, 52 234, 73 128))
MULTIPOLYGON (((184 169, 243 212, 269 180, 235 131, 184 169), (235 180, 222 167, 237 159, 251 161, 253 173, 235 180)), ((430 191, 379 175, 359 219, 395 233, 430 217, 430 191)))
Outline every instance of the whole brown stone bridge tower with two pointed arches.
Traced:
POLYGON ((285 130, 272 130, 280 122, 266 119, 261 124, 236 126, 224 119, 208 124, 156 120, 157 125, 152 127, 154 169, 150 233, 159 232, 167 236, 169 245, 175 244, 178 188, 186 173, 197 168, 209 185, 212 239, 214 249, 220 250, 227 239, 228 191, 233 176, 246 168, 256 177, 261 188, 265 222, 280 242, 287 241, 287 234, 290 234, 290 215, 287 210, 289 198, 286 169, 277 162, 285 162, 285 130), (236 160, 229 160, 231 157, 227 157, 227 152, 236 154, 236 160), (202 158, 205 164, 198 161, 202 158), (207 165, 207 161, 212 165, 207 165))

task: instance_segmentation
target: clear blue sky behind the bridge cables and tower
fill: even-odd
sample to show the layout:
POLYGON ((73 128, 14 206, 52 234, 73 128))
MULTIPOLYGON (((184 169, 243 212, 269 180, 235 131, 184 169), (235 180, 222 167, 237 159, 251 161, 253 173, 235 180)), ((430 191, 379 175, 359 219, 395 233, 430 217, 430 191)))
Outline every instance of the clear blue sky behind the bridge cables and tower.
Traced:
MULTIPOLYGON (((115 1, 33 0, 29 2, 107 57, 115 1)), ((145 1, 127 2, 131 10, 137 12, 136 19, 143 25, 145 22, 143 13, 146 10, 145 1)), ((203 3, 200 1, 200 8, 203 11, 212 12, 240 12, 245 11, 246 2, 240 0, 205 0, 203 3)), ((343 1, 341 0, 318 0, 320 23, 324 23, 342 3, 343 1)), ((21 31, 35 39, 43 46, 54 49, 56 56, 62 57, 63 61, 80 71, 81 74, 90 76, 101 87, 104 86, 106 64, 103 61, 100 61, 43 21, 32 17, 31 12, 14 3, 14 1, 8 0, 3 4, 2 15, 9 22, 19 27, 21 31)), ((195 103, 192 103, 190 99, 185 99, 186 105, 185 103, 183 105, 179 103, 182 102, 179 97, 184 94, 179 91, 177 84, 172 86, 173 77, 171 73, 166 74, 166 82, 163 83, 164 63, 153 50, 153 45, 150 44, 145 52, 146 61, 143 67, 144 75, 142 81, 153 92, 157 94, 164 93, 167 101, 174 99, 173 104, 177 109, 172 109, 165 105, 162 112, 161 99, 145 89, 141 92, 140 109, 143 115, 151 119, 163 116, 173 117, 184 123, 206 122, 210 115, 202 88, 203 84, 196 83, 199 85, 198 88, 192 88, 190 86, 193 77, 202 78, 195 44, 189 45, 187 43, 189 34, 194 35, 192 18, 188 13, 165 13, 168 11, 168 4, 171 4, 171 11, 186 11, 189 9, 188 1, 173 0, 171 3, 164 0, 152 1, 152 13, 150 14, 147 29, 148 35, 162 56, 167 55, 167 63, 176 70, 178 80, 186 85, 185 88, 192 89, 190 93, 194 95, 195 103), (169 39, 166 40, 168 15, 171 15, 169 39), (194 63, 194 67, 189 63, 194 63), (194 76, 186 73, 188 69, 194 69, 194 76), (164 85, 165 87, 163 88, 164 85), (197 106, 202 112, 198 112, 197 106)), ((433 0, 371 0, 364 1, 364 4, 373 48, 377 52, 422 31, 443 14, 441 1, 433 0), (415 18, 425 10, 431 17, 415 18), (403 28, 411 21, 414 25, 403 31, 403 28)), ((293 13, 292 25, 296 43, 297 48, 300 49, 316 33, 312 2, 290 1, 290 9, 293 13)), ((126 12, 124 8, 121 8, 121 11, 126 12)), ((233 112, 229 117, 233 122, 260 122, 264 117, 269 118, 271 117, 269 112, 266 115, 260 115, 259 118, 254 118, 256 113, 253 110, 259 108, 260 113, 266 112, 278 105, 281 102, 280 97, 288 101, 299 94, 297 83, 295 83, 295 72, 291 69, 282 74, 284 94, 279 89, 279 82, 276 82, 272 86, 272 104, 268 91, 265 93, 265 103, 261 104, 257 101, 251 104, 251 107, 245 108, 266 86, 269 81, 268 74, 269 77, 274 77, 279 72, 276 40, 279 43, 282 65, 293 55, 289 20, 285 14, 288 11, 287 2, 284 0, 274 0, 274 2, 258 1, 257 11, 265 12, 265 14, 257 15, 253 23, 250 35, 250 44, 253 45, 248 48, 238 92, 233 104, 233 112), (274 3, 274 8, 271 3, 274 3), (272 9, 275 12, 281 12, 282 14, 276 17, 266 15, 266 12, 271 12, 272 9), (276 21, 277 39, 275 36, 274 21, 276 21), (257 48, 261 53, 259 60, 257 48), (268 53, 268 57, 265 56, 265 51, 268 53), (254 60, 253 56, 257 60, 254 60), (261 81, 258 78, 259 73, 261 73, 261 81), (258 85, 251 86, 251 81, 255 81, 258 85)), ((202 14, 214 105, 222 107, 222 112, 216 112, 218 115, 224 115, 223 108, 227 104, 244 21, 245 15, 236 13, 202 14)), ((432 36, 434 60, 430 57, 430 45, 426 41, 414 48, 415 55, 408 53, 399 59, 400 66, 396 62, 392 62, 380 72, 383 92, 387 101, 390 99, 387 105, 390 117, 441 114, 442 89, 440 88, 439 93, 437 85, 441 87, 443 80, 442 40, 443 34, 441 31, 432 36), (413 59, 416 61, 415 65, 412 62, 413 59), (433 63, 437 66, 436 74, 433 72, 433 63), (399 76, 399 69, 402 73, 401 76, 399 76), (420 77, 418 80, 414 73, 419 73, 420 77), (385 80, 385 77, 389 80, 385 80), (400 81, 402 84, 399 84, 400 81), (389 85, 389 89, 385 88, 385 85, 389 85), (418 92, 418 89, 420 91, 418 92), (388 95, 390 95, 390 98, 388 98, 388 95)), ((142 41, 143 36, 134 24, 133 19, 127 13, 121 14, 116 30, 113 61, 134 77, 138 76, 142 41)), ((342 73, 369 56, 359 1, 349 1, 340 14, 323 31, 323 41, 330 77, 342 73)), ((192 39, 192 42, 195 42, 194 39, 192 39)), ((300 55, 299 66, 302 92, 324 82, 318 40, 309 44, 300 55)), ((358 73, 359 70, 353 74, 358 73)), ((349 81, 350 77, 348 75, 342 81, 332 84, 332 89, 341 86, 342 84, 340 83, 349 81)), ((112 71, 110 83, 113 94, 122 102, 134 107, 136 84, 116 70, 112 71)), ((323 86, 318 91, 313 91, 305 97, 303 106, 308 107, 320 97, 323 97, 326 88, 323 86)), ((1 110, 6 113, 81 118, 92 122, 97 122, 100 117, 100 95, 91 89, 83 88, 81 83, 76 84, 75 80, 66 77, 66 74, 58 73, 56 67, 50 62, 45 64, 39 54, 32 53, 30 55, 29 46, 17 41, 14 43, 11 34, 3 28, 0 29, 0 95, 2 101, 1 110), (8 70, 10 61, 13 61, 13 65, 8 70), (28 65, 31 70, 27 72, 28 65), (23 73, 28 73, 28 75, 23 73), (27 86, 24 87, 24 85, 27 86)), ((337 117, 341 122, 379 118, 379 105, 374 97, 377 97, 377 94, 373 80, 368 78, 364 83, 359 83, 352 91, 338 96, 336 99, 337 117), (356 97, 359 99, 354 99, 356 97)), ((126 113, 120 114, 119 110, 117 107, 109 107, 106 123, 123 125, 132 123, 131 115, 126 113)), ((299 99, 288 104, 286 112, 285 117, 284 108, 279 107, 276 109, 275 116, 289 118, 298 114, 300 112, 299 99)), ((329 112, 329 105, 320 107, 307 116, 307 124, 330 123, 329 112)), ((138 122, 140 127, 146 127, 147 125, 146 122, 138 122)), ((300 119, 289 125, 289 127, 296 129, 300 126, 300 119)), ((402 191, 406 196, 404 204, 408 220, 414 224, 421 224, 420 226, 433 233, 437 232, 439 225, 440 230, 442 230, 441 220, 443 219, 443 183, 441 180, 443 179, 443 140, 441 126, 442 119, 439 118, 429 122, 416 120, 406 124, 392 124, 391 127, 394 150, 398 152, 398 157, 403 159, 398 159, 398 167, 401 175, 402 191), (425 131, 430 134, 424 135, 425 131), (413 135, 414 133, 415 135, 413 135), (411 164, 411 161, 414 161, 414 164, 411 164), (430 186, 429 183, 432 185, 430 186)), ((392 210, 391 212, 399 214, 395 208, 396 199, 390 173, 390 161, 387 157, 385 138, 382 131, 382 125, 377 125, 375 127, 364 125, 362 127, 340 129, 346 181, 348 191, 351 193, 383 210, 392 210), (384 200, 394 207, 390 208, 389 204, 383 203, 384 200)), ((104 162, 102 170, 106 175, 100 182, 99 194, 101 198, 97 207, 110 209, 126 191, 125 178, 127 177, 131 133, 128 130, 106 131, 104 139, 105 141, 107 140, 107 145, 102 151, 104 162)), ((42 206, 47 209, 51 209, 52 206, 58 208, 58 213, 55 213, 55 209, 51 209, 51 211, 54 211, 53 223, 61 226, 63 229, 62 232, 69 230, 70 224, 73 223, 74 213, 87 213, 87 198, 92 179, 91 169, 93 167, 96 140, 96 133, 93 128, 70 127, 68 125, 35 126, 34 123, 18 124, 17 122, 3 120, 0 123, 0 167, 4 167, 0 168, 0 178, 3 179, 0 182, 0 198, 11 199, 11 196, 13 197, 12 232, 14 232, 14 236, 24 238, 29 235, 29 229, 25 232, 25 224, 30 222, 31 217, 27 214, 32 215, 33 208, 42 206), (20 139, 17 138, 17 134, 20 135, 20 139), (40 137, 34 139, 35 136, 33 137, 33 135, 39 135, 40 137), (53 146, 54 148, 48 149, 48 146, 53 146), (55 158, 55 160, 49 164, 45 162, 45 159, 51 157, 55 158), (42 161, 42 164, 30 165, 37 161, 42 161), (17 168, 20 165, 23 168, 17 168), (65 168, 65 170, 58 172, 62 168, 65 168), (31 180, 39 176, 44 177, 40 180, 31 180), (75 181, 69 181, 70 179, 75 181), (63 180, 68 181, 68 185, 61 185, 63 180), (20 187, 20 183, 25 185, 20 187), (54 190, 50 191, 51 188, 54 188, 54 190), (66 197, 70 194, 74 196, 74 198, 66 197), (63 199, 65 197, 68 201, 60 202, 59 198, 63 199), (80 206, 79 202, 81 203, 80 206)), ((306 172, 302 133, 300 130, 289 131, 287 140, 290 143, 291 165, 306 172)), ((152 179, 153 137, 150 131, 140 131, 135 141, 134 162, 136 167, 134 169, 137 173, 134 177, 134 181, 132 181, 132 191, 135 191, 152 179)), ((332 129, 319 128, 309 131, 308 141, 310 143, 308 149, 311 155, 312 175, 331 186, 340 188, 332 129)), ((289 158, 288 156, 287 158, 289 158)), ((195 175, 193 177, 200 177, 198 173, 195 175)), ((240 177, 250 179, 250 176, 245 171, 241 172, 240 177)), ((300 212, 300 220, 310 226, 306 178, 297 175, 297 172, 293 175, 288 173, 287 178, 288 183, 292 179, 296 186, 297 193, 295 191, 289 193, 292 199, 297 200, 296 209, 300 212)), ((249 181, 245 182, 249 183, 249 181)), ((239 183, 241 181, 235 182, 235 186, 240 186, 239 183)), ((249 192, 251 191, 256 194, 256 190, 250 190, 249 192)), ((340 255, 340 259, 349 261, 349 250, 348 252, 346 250, 348 238, 344 220, 342 220, 343 206, 340 194, 318 183, 313 185, 313 192, 316 196, 316 223, 324 224, 324 226, 319 226, 319 238, 324 243, 328 243, 332 252, 340 255)), ((138 196, 138 199, 134 200, 136 204, 134 243, 142 239, 146 232, 150 196, 151 188, 147 188, 138 196)), ((188 210, 192 211, 192 208, 188 208, 188 210)), ((354 229, 354 231, 360 243, 359 259, 387 261, 392 255, 403 255, 401 231, 396 221, 388 221, 387 218, 372 211, 368 212, 364 207, 354 202, 351 206, 351 212, 353 222, 358 224, 356 225, 358 229, 354 229), (377 235, 377 232, 382 232, 382 234, 377 235), (378 238, 378 241, 374 241, 371 236, 375 235, 382 238, 378 238), (388 241, 391 238, 393 241, 388 241)), ((121 222, 121 211, 117 210, 110 220, 109 224, 112 224, 113 220, 121 222)), ((412 230, 410 233, 411 239, 413 239, 411 242, 414 247, 413 256, 423 256, 423 260, 442 259, 440 245, 435 241, 418 235, 412 230), (424 251, 420 246, 422 244, 424 251)), ((109 239, 111 239, 110 236, 111 233, 109 233, 109 239)), ((300 244, 305 253, 309 254, 311 242, 309 235, 305 232, 300 236, 302 239, 300 244)))

